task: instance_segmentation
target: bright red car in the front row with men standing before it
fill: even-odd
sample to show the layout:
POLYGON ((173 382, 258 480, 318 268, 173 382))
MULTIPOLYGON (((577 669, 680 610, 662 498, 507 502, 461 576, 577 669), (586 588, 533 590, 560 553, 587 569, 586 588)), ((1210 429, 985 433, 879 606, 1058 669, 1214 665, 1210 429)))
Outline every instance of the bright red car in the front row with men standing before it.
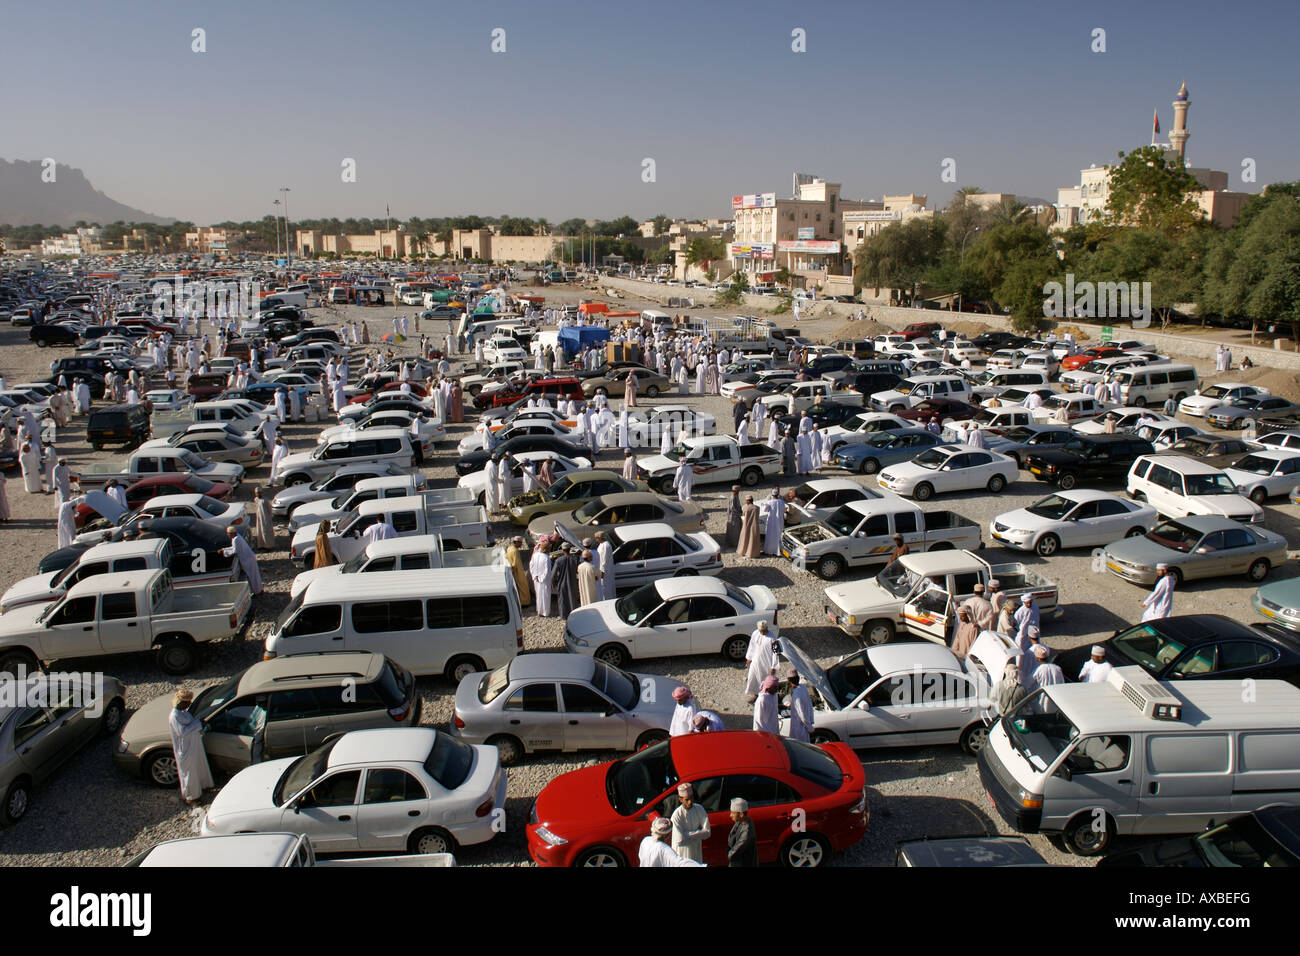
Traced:
POLYGON ((733 797, 749 801, 759 862, 820 866, 866 832, 867 775, 848 744, 805 744, 759 731, 685 734, 551 780, 528 821, 540 866, 629 866, 656 816, 694 784, 712 835, 705 862, 727 865, 733 797))

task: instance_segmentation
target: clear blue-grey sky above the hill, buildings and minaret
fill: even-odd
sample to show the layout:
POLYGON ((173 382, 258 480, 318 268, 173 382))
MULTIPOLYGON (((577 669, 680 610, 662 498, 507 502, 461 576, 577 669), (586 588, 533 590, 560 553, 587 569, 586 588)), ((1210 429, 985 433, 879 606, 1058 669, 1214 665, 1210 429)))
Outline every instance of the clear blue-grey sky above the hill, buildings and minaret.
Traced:
POLYGON ((1054 200, 1153 111, 1167 142, 1186 79, 1188 164, 1257 191, 1300 179, 1297 26, 1254 0, 8 3, 0 157, 200 224, 281 186, 292 220, 725 217, 794 172, 1054 200))

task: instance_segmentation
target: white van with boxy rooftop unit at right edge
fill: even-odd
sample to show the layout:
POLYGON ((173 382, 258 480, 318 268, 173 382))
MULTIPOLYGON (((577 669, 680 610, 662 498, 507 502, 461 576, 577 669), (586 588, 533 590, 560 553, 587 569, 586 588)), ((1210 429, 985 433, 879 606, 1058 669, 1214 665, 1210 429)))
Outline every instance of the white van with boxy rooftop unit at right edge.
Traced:
POLYGON ((1117 835, 1190 834, 1300 803, 1300 688, 1282 680, 1160 682, 1115 667, 1045 687, 1005 714, 979 754, 998 814, 1061 834, 1075 853, 1117 835))

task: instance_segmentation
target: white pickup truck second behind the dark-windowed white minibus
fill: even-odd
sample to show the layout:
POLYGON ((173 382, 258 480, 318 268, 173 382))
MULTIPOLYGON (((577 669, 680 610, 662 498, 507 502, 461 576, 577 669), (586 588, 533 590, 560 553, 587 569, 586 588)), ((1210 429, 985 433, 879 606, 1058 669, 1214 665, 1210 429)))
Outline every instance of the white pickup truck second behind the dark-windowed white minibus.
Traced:
MULTIPOLYGON (((368 541, 361 533, 373 524, 387 522, 398 537, 408 535, 439 535, 443 550, 486 548, 491 544, 488 533, 488 510, 477 505, 439 507, 425 505, 424 496, 380 498, 368 501, 334 523, 329 532, 330 549, 341 562, 351 561, 365 549, 368 541)), ((289 550, 290 561, 309 570, 316 562, 316 528, 303 527, 294 533, 289 550)))

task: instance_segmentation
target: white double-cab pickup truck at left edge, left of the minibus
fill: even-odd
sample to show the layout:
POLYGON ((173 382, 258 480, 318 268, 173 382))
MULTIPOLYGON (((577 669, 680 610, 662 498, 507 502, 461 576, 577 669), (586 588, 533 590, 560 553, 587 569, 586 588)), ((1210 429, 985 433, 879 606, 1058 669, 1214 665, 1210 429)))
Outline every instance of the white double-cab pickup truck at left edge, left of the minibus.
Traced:
POLYGON ((52 604, 0 614, 0 671, 152 650, 165 672, 187 674, 199 644, 240 633, 251 611, 247 581, 176 588, 166 570, 95 575, 52 604))

